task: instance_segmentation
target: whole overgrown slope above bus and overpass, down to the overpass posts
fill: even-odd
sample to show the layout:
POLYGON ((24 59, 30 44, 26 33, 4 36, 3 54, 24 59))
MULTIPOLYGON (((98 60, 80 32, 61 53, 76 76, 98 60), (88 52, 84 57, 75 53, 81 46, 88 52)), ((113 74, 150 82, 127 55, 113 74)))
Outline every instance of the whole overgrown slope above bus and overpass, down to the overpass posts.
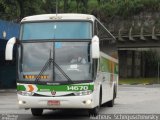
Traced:
POLYGON ((113 34, 160 32, 160 0, 0 0, 0 19, 19 22, 23 17, 46 13, 88 13, 96 15, 113 34), (57 1, 57 3, 56 3, 57 1))

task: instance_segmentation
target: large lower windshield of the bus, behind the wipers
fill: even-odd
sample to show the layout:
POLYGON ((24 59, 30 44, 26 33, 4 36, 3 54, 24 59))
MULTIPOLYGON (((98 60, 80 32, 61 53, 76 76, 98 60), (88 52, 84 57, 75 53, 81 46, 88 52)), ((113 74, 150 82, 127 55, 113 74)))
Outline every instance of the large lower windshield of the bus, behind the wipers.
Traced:
MULTIPOLYGON (((92 80, 89 42, 22 43, 19 47, 19 80, 35 81, 51 58, 72 81, 92 80)), ((53 62, 39 81, 68 81, 53 62)))

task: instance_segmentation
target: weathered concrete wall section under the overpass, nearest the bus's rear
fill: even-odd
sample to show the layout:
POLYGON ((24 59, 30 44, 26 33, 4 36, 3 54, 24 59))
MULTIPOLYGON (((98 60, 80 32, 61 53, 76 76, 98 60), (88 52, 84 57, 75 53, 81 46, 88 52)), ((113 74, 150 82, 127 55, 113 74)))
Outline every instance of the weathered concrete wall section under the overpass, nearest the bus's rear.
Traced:
POLYGON ((118 54, 120 77, 141 77, 141 52, 134 50, 119 50, 118 54))

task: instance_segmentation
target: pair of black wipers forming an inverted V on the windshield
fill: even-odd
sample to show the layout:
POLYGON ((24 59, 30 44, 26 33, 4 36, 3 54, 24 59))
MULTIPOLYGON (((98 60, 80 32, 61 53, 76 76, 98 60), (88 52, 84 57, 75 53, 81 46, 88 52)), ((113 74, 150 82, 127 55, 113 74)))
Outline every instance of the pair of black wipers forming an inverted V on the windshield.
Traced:
POLYGON ((49 59, 47 60, 47 62, 45 63, 45 65, 43 66, 43 68, 41 69, 40 73, 38 74, 38 76, 36 77, 35 79, 35 82, 37 83, 42 74, 47 70, 47 68, 50 66, 50 64, 53 63, 54 66, 67 78, 67 80, 71 83, 74 83, 71 78, 62 70, 62 68, 54 61, 53 58, 51 58, 51 50, 50 50, 50 57, 49 59))

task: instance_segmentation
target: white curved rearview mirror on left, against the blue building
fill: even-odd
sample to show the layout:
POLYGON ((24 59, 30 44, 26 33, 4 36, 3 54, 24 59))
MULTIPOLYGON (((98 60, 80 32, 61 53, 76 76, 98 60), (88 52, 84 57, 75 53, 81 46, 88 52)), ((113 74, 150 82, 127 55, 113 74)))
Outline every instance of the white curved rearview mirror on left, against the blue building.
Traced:
POLYGON ((13 60, 13 47, 15 43, 16 43, 15 37, 12 37, 11 39, 8 40, 7 45, 6 45, 6 50, 5 50, 6 60, 13 60))

